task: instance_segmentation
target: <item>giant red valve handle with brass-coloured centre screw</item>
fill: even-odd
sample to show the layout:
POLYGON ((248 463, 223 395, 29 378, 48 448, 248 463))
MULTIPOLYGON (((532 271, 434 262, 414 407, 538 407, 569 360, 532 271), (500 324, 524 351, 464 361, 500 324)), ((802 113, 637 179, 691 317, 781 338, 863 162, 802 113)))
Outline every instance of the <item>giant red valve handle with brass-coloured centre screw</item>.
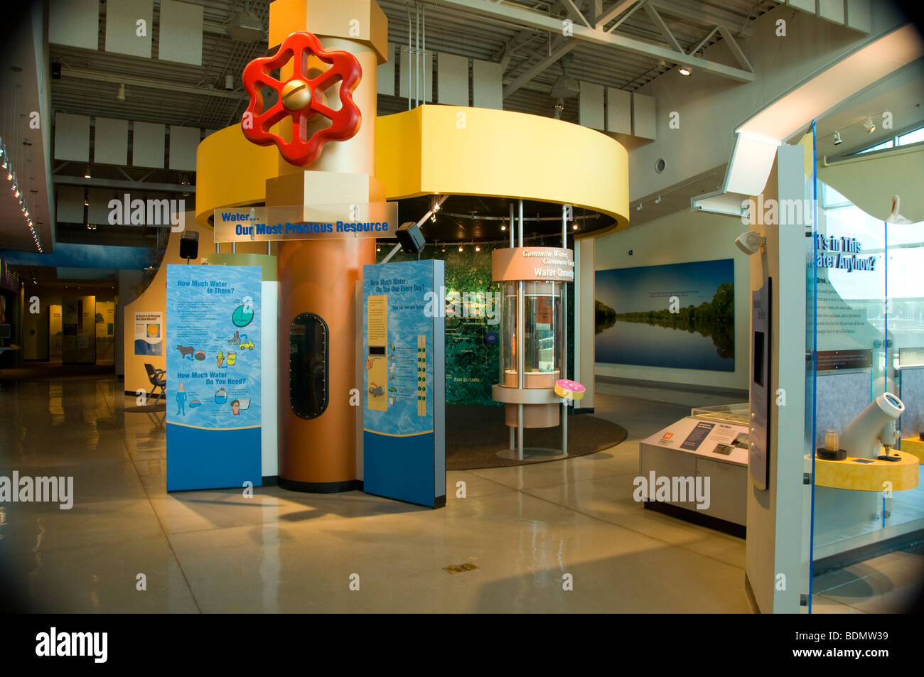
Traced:
POLYGON ((341 50, 326 52, 321 42, 310 32, 298 30, 289 35, 271 56, 254 59, 244 67, 244 89, 250 104, 241 119, 244 136, 260 146, 274 143, 287 162, 307 166, 321 155, 327 141, 352 139, 359 131, 362 115, 353 102, 353 90, 362 79, 362 68, 353 54, 341 50), (331 67, 315 78, 305 72, 307 55, 313 54, 331 67), (270 71, 292 59, 292 76, 280 81, 270 71), (323 91, 340 80, 340 110, 334 111, 322 103, 323 91), (272 87, 278 101, 263 111, 261 86, 272 87), (332 125, 319 129, 306 139, 310 120, 322 115, 332 125), (286 141, 270 131, 280 120, 292 118, 292 140, 286 141), (250 124, 248 124, 250 123, 250 124))

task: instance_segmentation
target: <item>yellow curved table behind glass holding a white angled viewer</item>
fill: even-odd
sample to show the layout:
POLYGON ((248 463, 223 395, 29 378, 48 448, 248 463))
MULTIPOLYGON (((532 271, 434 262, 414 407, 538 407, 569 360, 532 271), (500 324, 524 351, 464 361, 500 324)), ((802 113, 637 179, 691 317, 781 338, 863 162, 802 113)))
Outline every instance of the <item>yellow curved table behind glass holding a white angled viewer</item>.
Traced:
POLYGON ((847 456, 843 461, 816 458, 815 484, 832 489, 881 491, 886 488, 885 482, 892 482, 893 491, 914 489, 918 486, 918 456, 906 451, 897 453, 902 460, 880 461, 877 458, 857 459, 854 456, 847 456))

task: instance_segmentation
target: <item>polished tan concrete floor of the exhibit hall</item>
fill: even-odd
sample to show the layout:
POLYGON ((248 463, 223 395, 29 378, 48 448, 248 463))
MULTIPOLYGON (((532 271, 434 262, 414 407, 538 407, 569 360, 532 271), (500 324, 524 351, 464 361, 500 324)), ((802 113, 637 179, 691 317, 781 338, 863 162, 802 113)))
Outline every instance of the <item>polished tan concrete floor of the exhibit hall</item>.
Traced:
MULTIPOLYGON (((0 504, 0 571, 36 611, 750 611, 743 539, 632 500, 638 441, 727 398, 609 384, 597 397, 628 440, 565 462, 450 472, 434 511, 359 491, 168 495, 164 414, 126 413, 134 398, 119 381, 6 382, 0 475, 73 476, 76 500, 70 511, 0 504), (444 571, 463 562, 478 568, 444 571)), ((919 549, 893 555, 910 560, 857 565, 868 569, 850 574, 853 588, 826 574, 816 611, 890 611, 902 584, 884 572, 924 561, 919 549)))

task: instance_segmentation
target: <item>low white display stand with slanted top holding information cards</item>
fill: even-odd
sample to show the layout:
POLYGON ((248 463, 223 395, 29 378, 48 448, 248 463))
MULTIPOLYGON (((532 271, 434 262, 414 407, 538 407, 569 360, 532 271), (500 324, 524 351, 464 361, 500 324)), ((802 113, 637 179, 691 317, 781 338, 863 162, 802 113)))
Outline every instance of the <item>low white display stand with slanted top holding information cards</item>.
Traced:
POLYGON ((748 508, 747 435, 748 426, 740 415, 694 409, 690 416, 639 442, 639 477, 646 479, 644 506, 743 535, 748 508), (651 478, 700 478, 700 482, 709 478, 708 506, 699 507, 695 499, 664 500, 656 496, 651 478), (666 506, 674 508, 665 510, 666 506))

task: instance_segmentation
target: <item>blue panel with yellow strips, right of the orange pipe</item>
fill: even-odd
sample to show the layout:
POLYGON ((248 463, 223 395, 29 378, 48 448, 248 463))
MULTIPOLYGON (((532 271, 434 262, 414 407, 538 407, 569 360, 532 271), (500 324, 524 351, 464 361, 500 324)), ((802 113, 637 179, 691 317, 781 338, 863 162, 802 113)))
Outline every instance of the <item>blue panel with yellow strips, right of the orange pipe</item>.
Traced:
POLYGON ((446 501, 444 262, 363 266, 363 489, 446 501))

